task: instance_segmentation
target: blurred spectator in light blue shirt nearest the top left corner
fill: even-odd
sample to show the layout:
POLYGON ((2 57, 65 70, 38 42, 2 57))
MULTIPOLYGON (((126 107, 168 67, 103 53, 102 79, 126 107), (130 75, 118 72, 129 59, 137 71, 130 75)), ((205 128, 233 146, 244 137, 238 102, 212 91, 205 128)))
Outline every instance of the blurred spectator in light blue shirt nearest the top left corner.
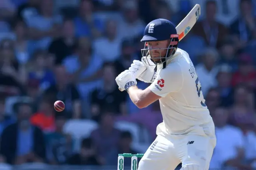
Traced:
POLYGON ((54 15, 53 1, 40 1, 40 15, 27 20, 29 35, 34 40, 35 49, 48 49, 52 38, 60 36, 61 16, 54 15))

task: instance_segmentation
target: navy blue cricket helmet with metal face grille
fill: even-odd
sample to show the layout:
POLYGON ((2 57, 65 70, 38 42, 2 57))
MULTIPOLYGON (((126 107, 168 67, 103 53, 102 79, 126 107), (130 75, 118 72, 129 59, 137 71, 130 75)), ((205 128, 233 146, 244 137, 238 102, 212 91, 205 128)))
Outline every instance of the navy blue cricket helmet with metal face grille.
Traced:
MULTIPOLYGON (((160 18, 151 21, 146 26, 144 30, 144 36, 140 40, 141 42, 145 42, 144 49, 141 49, 142 57, 143 59, 145 59, 145 62, 147 61, 147 59, 152 60, 152 58, 148 57, 148 47, 146 42, 170 40, 170 45, 168 47, 161 48, 167 49, 166 56, 154 57, 154 59, 159 59, 159 61, 152 60, 155 64, 161 64, 165 63, 167 58, 174 55, 178 47, 178 36, 179 35, 177 34, 174 24, 172 24, 172 22, 170 22, 169 20, 160 18)), ((146 63, 150 65, 150 62, 146 63)))

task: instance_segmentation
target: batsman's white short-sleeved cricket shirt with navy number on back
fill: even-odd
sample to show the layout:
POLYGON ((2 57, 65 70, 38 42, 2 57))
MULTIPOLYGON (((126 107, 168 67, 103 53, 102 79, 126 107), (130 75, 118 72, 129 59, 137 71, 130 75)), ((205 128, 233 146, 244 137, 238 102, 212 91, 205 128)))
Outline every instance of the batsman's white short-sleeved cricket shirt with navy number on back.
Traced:
POLYGON ((163 64, 157 66, 156 79, 150 85, 151 91, 162 97, 159 101, 163 123, 156 133, 185 134, 196 125, 212 121, 188 53, 178 48, 166 68, 162 67, 163 64))

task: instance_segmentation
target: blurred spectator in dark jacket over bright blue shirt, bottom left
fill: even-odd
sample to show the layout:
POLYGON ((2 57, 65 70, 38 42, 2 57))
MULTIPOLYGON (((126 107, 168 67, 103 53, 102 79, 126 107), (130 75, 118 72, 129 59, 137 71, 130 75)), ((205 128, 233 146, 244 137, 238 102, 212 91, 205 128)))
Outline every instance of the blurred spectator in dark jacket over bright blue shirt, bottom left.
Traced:
POLYGON ((44 162, 46 147, 43 132, 30 124, 32 109, 29 104, 17 106, 17 122, 4 129, 1 136, 1 154, 8 164, 44 162))

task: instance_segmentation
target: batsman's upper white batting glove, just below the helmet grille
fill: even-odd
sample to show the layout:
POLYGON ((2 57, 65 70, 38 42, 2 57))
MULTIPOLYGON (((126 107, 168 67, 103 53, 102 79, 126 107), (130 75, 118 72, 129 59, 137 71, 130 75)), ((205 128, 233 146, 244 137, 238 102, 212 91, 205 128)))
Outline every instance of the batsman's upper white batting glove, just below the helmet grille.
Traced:
POLYGON ((133 60, 133 63, 131 64, 131 67, 129 67, 129 70, 133 73, 136 79, 143 81, 145 83, 152 83, 155 79, 154 69, 156 66, 154 65, 153 62, 150 64, 152 65, 146 64, 142 57, 141 61, 133 60))

